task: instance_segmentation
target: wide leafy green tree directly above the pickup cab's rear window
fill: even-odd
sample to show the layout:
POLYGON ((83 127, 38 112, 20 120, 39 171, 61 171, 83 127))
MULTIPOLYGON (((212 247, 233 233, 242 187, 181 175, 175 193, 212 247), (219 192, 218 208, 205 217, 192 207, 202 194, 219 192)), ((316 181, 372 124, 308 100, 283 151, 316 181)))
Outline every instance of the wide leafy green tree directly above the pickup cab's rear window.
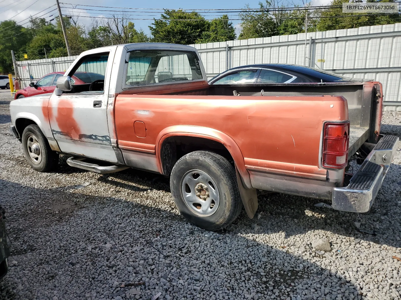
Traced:
POLYGON ((164 10, 161 20, 154 19, 149 26, 153 38, 151 42, 195 44, 202 34, 209 30, 209 22, 197 12, 164 10))

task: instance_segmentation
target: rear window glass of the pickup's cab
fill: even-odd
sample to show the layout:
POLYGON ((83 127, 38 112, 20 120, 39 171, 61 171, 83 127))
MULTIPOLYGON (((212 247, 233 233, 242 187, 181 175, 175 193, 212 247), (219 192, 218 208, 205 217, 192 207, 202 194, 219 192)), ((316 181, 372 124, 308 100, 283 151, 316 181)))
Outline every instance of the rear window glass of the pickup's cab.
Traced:
POLYGON ((126 88, 203 79, 196 53, 190 51, 134 50, 126 68, 126 88))

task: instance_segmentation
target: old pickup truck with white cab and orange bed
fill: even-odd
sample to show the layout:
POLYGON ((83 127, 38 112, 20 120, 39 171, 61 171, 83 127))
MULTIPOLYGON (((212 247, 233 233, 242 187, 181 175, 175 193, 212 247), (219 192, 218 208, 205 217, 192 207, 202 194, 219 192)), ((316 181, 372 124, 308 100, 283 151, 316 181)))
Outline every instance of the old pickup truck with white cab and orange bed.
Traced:
POLYGON ((137 43, 83 52, 52 94, 10 103, 28 164, 97 173, 136 168, 170 176, 180 213, 207 230, 257 190, 329 200, 367 212, 398 138, 380 135, 379 82, 209 85, 190 46, 137 43), (76 72, 104 79, 74 84, 76 72))

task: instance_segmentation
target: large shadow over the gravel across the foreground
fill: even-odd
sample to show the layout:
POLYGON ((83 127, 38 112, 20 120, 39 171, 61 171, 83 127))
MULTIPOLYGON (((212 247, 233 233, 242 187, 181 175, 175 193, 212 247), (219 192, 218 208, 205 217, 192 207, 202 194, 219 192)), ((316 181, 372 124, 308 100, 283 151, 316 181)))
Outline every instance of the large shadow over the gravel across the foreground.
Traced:
POLYGON ((143 299, 159 291, 162 298, 166 292, 178 298, 182 291, 189 299, 195 295, 215 299, 219 294, 362 299, 359 286, 334 267, 311 262, 317 256, 314 252, 307 249, 308 259, 304 259, 252 240, 240 234, 249 227, 243 222, 225 232, 208 232, 188 224, 176 212, 129 200, 81 195, 84 200, 73 202, 79 194, 1 179, 0 192, 12 242, 10 270, 0 282, 0 294, 6 299, 53 298, 47 292, 55 286, 60 300, 86 298, 85 294, 99 292, 103 284, 109 284, 103 295, 115 297, 127 290, 111 287, 113 282, 138 281, 146 282, 143 299), (45 209, 57 203, 65 205, 57 213, 45 209), (110 243, 112 247, 107 246, 110 243), (88 249, 89 245, 93 247, 88 249))

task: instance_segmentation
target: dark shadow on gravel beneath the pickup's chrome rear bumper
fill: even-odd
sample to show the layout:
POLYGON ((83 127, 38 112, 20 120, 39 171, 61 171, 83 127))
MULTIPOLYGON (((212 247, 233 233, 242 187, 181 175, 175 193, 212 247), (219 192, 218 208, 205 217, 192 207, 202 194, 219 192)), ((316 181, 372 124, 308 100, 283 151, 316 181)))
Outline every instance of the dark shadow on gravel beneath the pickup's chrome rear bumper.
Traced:
POLYGON ((255 218, 250 220, 245 212, 241 214, 241 224, 259 226, 258 233, 285 232, 286 238, 298 234, 305 234, 312 230, 325 230, 356 239, 363 239, 380 245, 401 247, 400 226, 394 215, 401 214, 401 166, 391 164, 387 176, 379 190, 373 206, 366 213, 342 212, 327 207, 316 207, 315 204, 324 202, 313 198, 290 196, 286 194, 271 193, 258 196, 259 208, 255 218), (258 215, 260 219, 258 219, 258 215), (356 228, 354 222, 360 223, 356 228), (277 224, 280 224, 277 226, 277 224))

